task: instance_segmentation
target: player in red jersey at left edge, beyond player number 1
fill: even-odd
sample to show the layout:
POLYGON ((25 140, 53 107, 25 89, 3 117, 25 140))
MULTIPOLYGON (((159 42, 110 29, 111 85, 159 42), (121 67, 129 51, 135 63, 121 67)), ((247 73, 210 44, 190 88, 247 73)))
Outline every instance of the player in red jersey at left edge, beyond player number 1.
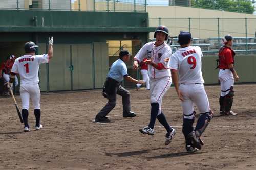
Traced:
POLYGON ((1 64, 0 67, 0 78, 2 77, 3 72, 3 78, 4 78, 4 86, 3 86, 3 93, 2 95, 10 95, 8 88, 7 88, 7 82, 10 80, 10 74, 12 69, 12 56, 6 57, 6 61, 1 64))

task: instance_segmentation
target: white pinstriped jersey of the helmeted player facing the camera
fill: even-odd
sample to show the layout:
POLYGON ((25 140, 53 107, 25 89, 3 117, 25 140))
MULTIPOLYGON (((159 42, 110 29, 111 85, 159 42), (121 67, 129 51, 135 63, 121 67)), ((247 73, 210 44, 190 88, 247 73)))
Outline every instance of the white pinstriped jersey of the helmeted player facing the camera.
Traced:
POLYGON ((148 75, 150 78, 161 78, 165 76, 170 76, 170 70, 167 69, 168 63, 163 59, 170 57, 172 55, 172 48, 168 46, 166 43, 155 47, 155 42, 146 43, 140 51, 134 57, 135 59, 141 62, 145 57, 150 60, 153 57, 153 62, 161 63, 164 66, 164 69, 158 70, 151 65, 148 65, 148 75))

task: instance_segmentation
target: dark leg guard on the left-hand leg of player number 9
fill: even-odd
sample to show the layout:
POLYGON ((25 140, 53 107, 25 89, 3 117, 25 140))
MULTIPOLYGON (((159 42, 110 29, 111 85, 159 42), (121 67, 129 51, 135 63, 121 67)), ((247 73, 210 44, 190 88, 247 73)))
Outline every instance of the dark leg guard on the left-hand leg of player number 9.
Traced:
POLYGON ((194 122, 195 122, 195 111, 190 115, 187 115, 187 116, 184 115, 182 133, 188 145, 191 145, 191 139, 188 137, 188 134, 194 130, 194 127, 193 127, 194 122), (186 117, 192 116, 193 114, 194 114, 193 119, 186 118, 186 117))

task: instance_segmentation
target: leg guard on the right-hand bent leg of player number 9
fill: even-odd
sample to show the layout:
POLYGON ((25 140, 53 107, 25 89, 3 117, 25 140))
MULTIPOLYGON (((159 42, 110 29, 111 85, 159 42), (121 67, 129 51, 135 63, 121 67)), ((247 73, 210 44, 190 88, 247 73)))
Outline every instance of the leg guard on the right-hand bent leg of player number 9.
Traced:
POLYGON ((197 125, 195 128, 195 134, 197 137, 200 137, 203 134, 212 117, 214 117, 214 112, 211 110, 209 112, 200 113, 200 117, 197 120, 197 125))

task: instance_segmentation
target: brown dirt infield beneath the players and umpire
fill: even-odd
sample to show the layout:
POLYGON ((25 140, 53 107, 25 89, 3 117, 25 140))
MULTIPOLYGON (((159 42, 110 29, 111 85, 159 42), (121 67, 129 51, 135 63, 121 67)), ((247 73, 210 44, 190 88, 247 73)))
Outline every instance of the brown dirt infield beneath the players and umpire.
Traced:
MULTIPOLYGON (((101 91, 42 94, 44 128, 34 129, 31 103, 30 132, 23 131, 12 98, 1 97, 0 169, 256 169, 255 84, 234 86, 232 110, 238 115, 228 117, 219 116, 220 86, 205 87, 215 117, 202 135, 205 145, 195 153, 185 150, 182 108, 174 87, 162 104, 177 131, 169 145, 164 145, 166 131, 158 121, 153 136, 139 132, 150 119, 149 92, 128 90, 137 116, 122 117, 118 96, 110 123, 93 123, 107 102, 101 91)), ((21 109, 19 95, 16 101, 21 109)))

